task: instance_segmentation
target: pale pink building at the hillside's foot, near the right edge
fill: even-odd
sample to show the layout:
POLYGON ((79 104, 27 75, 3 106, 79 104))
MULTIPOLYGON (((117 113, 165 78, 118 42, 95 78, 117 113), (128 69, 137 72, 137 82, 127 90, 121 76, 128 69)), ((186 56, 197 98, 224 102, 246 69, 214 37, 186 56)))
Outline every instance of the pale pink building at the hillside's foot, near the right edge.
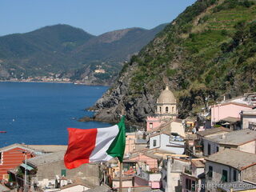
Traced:
POLYGON ((240 112, 242 110, 250 110, 252 107, 253 106, 248 106, 238 102, 226 102, 210 106, 211 125, 213 126, 215 122, 219 122, 225 118, 237 118, 239 120, 240 112))

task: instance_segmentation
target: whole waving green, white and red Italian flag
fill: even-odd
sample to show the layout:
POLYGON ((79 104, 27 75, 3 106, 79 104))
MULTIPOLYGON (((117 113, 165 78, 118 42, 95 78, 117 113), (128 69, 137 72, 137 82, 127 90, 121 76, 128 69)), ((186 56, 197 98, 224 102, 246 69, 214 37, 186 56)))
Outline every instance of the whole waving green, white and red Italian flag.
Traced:
POLYGON ((68 128, 69 144, 64 156, 67 169, 83 163, 106 162, 118 158, 122 162, 126 148, 125 117, 115 126, 82 130, 68 128))

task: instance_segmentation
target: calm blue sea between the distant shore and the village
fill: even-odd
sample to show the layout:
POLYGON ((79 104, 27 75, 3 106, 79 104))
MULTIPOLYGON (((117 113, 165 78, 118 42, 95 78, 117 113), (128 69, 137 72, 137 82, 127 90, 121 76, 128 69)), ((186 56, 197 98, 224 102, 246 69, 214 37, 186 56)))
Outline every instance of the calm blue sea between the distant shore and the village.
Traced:
POLYGON ((13 143, 67 145, 68 127, 90 129, 111 126, 78 122, 92 116, 93 106, 107 86, 72 83, 0 82, 0 147, 13 143))

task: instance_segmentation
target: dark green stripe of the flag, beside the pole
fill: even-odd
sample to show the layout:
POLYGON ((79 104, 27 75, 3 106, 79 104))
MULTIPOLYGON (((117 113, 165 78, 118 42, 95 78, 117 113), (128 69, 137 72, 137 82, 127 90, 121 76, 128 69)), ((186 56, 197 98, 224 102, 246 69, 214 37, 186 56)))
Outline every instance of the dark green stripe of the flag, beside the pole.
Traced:
POLYGON ((122 116, 121 121, 118 122, 119 132, 114 141, 111 143, 106 153, 112 156, 113 158, 118 158, 122 162, 123 154, 125 153, 126 148, 126 125, 125 125, 125 116, 122 116))

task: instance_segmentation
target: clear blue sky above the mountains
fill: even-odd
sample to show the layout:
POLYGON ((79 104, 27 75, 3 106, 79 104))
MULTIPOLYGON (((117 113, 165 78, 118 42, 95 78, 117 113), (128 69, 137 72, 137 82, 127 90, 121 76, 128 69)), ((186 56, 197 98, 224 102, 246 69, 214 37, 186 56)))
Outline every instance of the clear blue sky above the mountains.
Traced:
POLYGON ((1 0, 0 36, 68 24, 90 34, 171 22, 195 0, 1 0))

